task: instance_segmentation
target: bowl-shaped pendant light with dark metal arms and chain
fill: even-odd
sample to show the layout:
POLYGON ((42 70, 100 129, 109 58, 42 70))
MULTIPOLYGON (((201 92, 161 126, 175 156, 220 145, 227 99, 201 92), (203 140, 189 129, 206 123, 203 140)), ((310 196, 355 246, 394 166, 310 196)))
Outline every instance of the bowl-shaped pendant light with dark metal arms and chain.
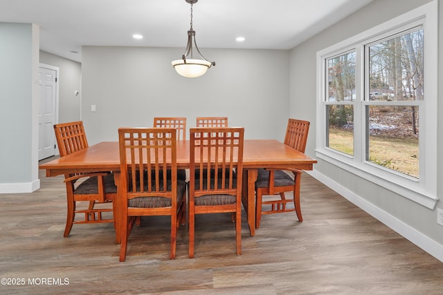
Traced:
POLYGON ((195 42, 195 30, 192 29, 192 5, 197 3, 199 0, 185 0, 187 3, 191 5, 191 28, 188 30, 188 45, 186 46, 185 53, 181 57, 181 59, 176 59, 172 61, 172 66, 174 66, 175 70, 179 75, 188 78, 200 77, 206 73, 206 70, 211 66, 215 66, 215 61, 208 61, 208 59, 204 58, 201 55, 199 48, 197 47, 197 43, 195 42), (194 59, 192 57, 192 43, 195 45, 195 49, 197 53, 199 53, 201 59, 194 59), (188 56, 190 58, 188 59, 188 56))

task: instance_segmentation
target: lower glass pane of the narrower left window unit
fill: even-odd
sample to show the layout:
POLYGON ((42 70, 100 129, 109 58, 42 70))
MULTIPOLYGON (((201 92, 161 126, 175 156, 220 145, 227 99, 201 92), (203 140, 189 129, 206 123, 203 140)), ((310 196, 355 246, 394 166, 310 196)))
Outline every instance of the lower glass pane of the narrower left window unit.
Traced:
POLYGON ((326 146, 348 155, 354 155, 354 109, 347 105, 327 106, 326 146))

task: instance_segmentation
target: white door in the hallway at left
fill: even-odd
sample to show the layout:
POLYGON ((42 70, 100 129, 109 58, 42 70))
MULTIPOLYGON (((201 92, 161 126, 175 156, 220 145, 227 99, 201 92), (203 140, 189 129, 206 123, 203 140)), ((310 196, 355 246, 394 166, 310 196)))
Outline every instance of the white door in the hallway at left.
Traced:
POLYGON ((55 105, 57 102, 58 69, 39 68, 39 160, 55 155, 55 105))

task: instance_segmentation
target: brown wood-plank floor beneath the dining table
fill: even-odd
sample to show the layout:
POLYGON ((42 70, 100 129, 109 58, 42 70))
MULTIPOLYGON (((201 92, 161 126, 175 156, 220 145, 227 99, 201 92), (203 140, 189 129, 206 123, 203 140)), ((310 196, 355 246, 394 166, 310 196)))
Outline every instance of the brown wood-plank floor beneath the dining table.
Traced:
POLYGON ((223 214, 197 216, 193 259, 181 226, 169 260, 168 219, 156 217, 134 228, 124 263, 112 224, 63 238, 63 177, 40 178, 34 193, 0 195, 0 278, 24 278, 2 280, 1 294, 443 294, 443 263, 306 173, 304 221, 266 215, 251 237, 244 214, 241 256, 223 214))

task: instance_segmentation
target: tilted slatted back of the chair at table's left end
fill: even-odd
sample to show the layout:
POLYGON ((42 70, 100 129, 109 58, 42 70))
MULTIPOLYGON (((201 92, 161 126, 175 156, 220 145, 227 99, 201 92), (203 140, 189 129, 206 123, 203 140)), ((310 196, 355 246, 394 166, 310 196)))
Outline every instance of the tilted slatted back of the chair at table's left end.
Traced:
POLYGON ((60 157, 88 147, 82 121, 55 124, 54 131, 60 157))

